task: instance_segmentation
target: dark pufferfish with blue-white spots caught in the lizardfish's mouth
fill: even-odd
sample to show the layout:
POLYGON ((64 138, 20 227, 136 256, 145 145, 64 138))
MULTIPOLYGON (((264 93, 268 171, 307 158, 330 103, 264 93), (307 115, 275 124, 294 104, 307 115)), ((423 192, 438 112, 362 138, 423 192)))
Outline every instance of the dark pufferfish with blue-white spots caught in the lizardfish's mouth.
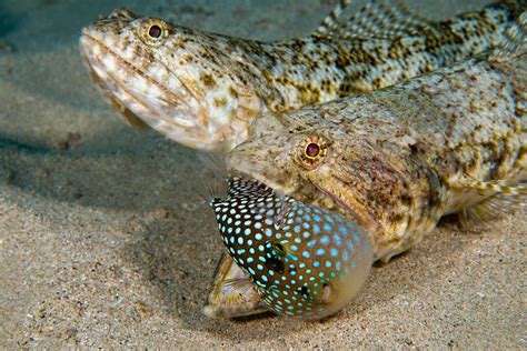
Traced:
POLYGON ((354 220, 257 181, 230 178, 226 199, 210 205, 228 253, 250 277, 242 284, 253 284, 276 313, 320 319, 337 312, 374 262, 371 240, 354 220))

